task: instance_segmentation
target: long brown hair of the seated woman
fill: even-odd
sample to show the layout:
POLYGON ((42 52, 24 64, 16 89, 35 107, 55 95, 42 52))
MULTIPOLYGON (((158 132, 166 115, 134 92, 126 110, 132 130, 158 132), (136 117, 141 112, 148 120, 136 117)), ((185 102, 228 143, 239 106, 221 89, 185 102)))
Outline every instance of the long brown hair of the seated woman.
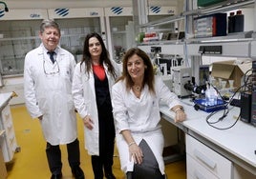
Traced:
POLYGON ((122 75, 119 77, 119 79, 117 81, 125 80, 127 90, 129 90, 133 87, 134 82, 127 70, 127 63, 128 63, 128 60, 134 54, 137 54, 143 60, 143 63, 146 66, 146 69, 144 72, 142 88, 145 85, 148 85, 149 91, 155 94, 156 93, 155 88, 154 88, 155 74, 154 74, 152 62, 151 62, 149 56, 147 55, 147 53, 145 53, 143 50, 140 50, 139 48, 132 48, 132 49, 126 51, 126 53, 123 57, 123 61, 122 61, 122 63, 123 63, 122 64, 122 75))

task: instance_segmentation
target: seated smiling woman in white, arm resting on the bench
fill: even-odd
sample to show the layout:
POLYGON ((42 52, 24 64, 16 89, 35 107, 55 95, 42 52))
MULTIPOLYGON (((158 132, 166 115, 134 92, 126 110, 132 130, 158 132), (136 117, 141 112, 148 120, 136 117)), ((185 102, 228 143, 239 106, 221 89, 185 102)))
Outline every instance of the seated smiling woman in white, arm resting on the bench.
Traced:
POLYGON ((112 89, 121 169, 128 179, 164 178, 160 100, 176 112, 177 122, 185 120, 186 114, 177 95, 163 84, 160 76, 154 76, 144 51, 128 50, 122 63, 122 76, 112 89))

